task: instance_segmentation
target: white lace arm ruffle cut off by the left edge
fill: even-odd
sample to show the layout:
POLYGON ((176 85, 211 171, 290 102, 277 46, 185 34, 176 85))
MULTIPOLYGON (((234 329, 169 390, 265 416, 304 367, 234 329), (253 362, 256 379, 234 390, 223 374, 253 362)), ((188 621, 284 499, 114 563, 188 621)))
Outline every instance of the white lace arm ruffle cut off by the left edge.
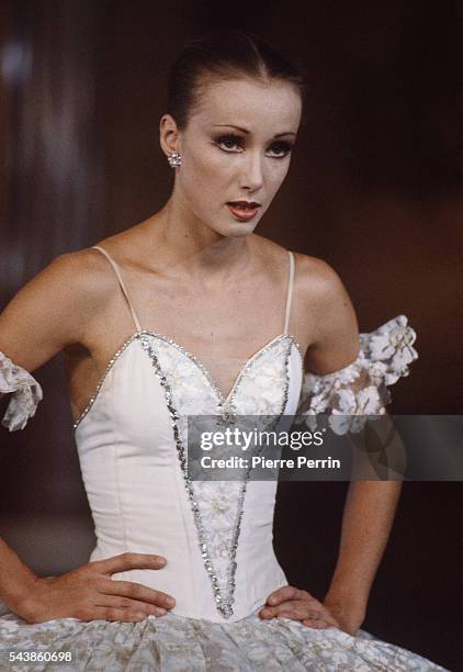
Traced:
POLYGON ((12 393, 1 424, 10 432, 24 429, 42 401, 42 388, 25 369, 16 367, 0 351, 0 392, 12 393))

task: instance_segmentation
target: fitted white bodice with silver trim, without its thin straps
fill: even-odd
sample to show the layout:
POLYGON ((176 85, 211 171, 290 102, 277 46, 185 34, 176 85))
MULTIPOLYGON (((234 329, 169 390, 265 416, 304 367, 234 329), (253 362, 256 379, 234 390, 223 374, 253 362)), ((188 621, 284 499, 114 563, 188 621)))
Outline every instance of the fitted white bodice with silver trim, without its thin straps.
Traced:
POLYGON ((174 613, 239 619, 286 578, 273 552, 274 481, 192 481, 191 415, 294 414, 302 358, 287 333, 256 352, 225 399, 207 369, 160 334, 137 332, 112 358, 76 443, 97 546, 91 560, 159 553, 161 570, 113 574, 161 590, 174 613))

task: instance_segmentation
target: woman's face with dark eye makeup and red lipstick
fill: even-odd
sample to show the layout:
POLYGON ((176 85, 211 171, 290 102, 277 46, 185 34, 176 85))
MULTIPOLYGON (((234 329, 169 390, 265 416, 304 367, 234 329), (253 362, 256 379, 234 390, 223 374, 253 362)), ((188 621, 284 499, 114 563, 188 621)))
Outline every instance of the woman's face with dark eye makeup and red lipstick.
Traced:
POLYGON ((167 147, 182 155, 173 198, 223 236, 252 233, 286 176, 301 111, 289 82, 203 85, 187 127, 167 147))

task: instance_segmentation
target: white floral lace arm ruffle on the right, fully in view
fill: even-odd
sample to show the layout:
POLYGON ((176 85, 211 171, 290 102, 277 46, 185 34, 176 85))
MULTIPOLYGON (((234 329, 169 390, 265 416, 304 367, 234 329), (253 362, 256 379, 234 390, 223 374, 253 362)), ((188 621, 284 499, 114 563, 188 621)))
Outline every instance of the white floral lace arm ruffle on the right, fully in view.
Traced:
POLYGON ((360 432, 365 415, 383 415, 391 402, 388 385, 408 376, 408 365, 418 358, 413 347, 415 331, 405 315, 389 320, 369 334, 360 334, 360 351, 352 363, 326 376, 304 376, 298 415, 315 429, 316 416, 327 414, 336 434, 360 432))

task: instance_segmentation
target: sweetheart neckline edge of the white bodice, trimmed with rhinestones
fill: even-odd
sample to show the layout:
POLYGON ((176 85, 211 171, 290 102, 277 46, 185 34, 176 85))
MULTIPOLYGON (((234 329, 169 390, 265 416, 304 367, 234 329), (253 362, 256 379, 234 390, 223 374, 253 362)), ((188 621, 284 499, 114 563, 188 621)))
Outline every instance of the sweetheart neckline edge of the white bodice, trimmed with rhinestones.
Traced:
POLYGON ((104 381, 106 380, 106 377, 109 374, 109 372, 111 371, 111 369, 113 368, 113 366, 115 365, 115 362, 118 360, 118 358, 121 357, 121 355, 127 349, 127 347, 134 343, 134 340, 136 338, 138 338, 139 336, 154 336, 156 338, 160 338, 161 340, 163 340, 165 343, 168 343, 169 345, 173 346, 174 348, 177 348, 178 350, 180 350, 181 352, 183 352, 191 361, 193 361, 193 363, 204 373, 204 376, 206 377, 207 381, 211 384, 211 388, 214 390, 214 392, 216 393, 216 396, 218 399, 219 404, 224 407, 230 400, 233 393, 236 391, 242 376, 245 374, 245 372, 247 371, 248 367, 255 361, 255 359, 261 355, 261 352, 263 352, 267 348, 270 348, 274 343, 276 343, 278 340, 280 340, 281 338, 283 338, 283 336, 286 336, 291 339, 292 344, 295 346, 296 351, 300 356, 300 361, 301 361, 301 367, 304 370, 304 362, 303 362, 303 357, 302 357, 302 352, 301 352, 301 346, 297 343, 297 340, 295 339, 295 337, 293 336, 293 334, 290 334, 290 332, 283 332, 282 334, 279 334, 278 336, 275 336, 274 338, 272 338, 271 340, 269 340, 268 343, 266 343, 261 348, 259 348, 259 350, 257 350, 256 352, 253 352, 253 355, 251 355, 250 357, 248 357, 248 359, 245 361, 245 363, 242 365, 242 367, 240 368, 240 370, 238 371, 238 374, 235 378, 235 381, 232 385, 230 391, 228 392, 228 394, 225 396, 222 392, 222 390, 219 389, 219 387, 217 385, 214 377, 212 376, 210 369, 201 361, 201 359, 199 357, 196 357, 195 355, 193 355, 192 352, 190 352, 189 350, 187 350, 187 348, 184 348, 182 345, 180 345, 179 343, 177 343, 173 338, 171 338, 170 336, 167 336, 166 334, 160 334, 157 332, 150 332, 149 329, 139 329, 137 332, 135 332, 134 334, 132 334, 132 336, 129 336, 128 338, 125 339, 125 341, 122 344, 122 346, 120 346, 117 348, 117 350, 114 352, 114 355, 111 357, 111 359, 109 360, 103 374, 101 376, 100 380, 97 383, 97 387, 92 393, 92 395, 90 396, 88 403, 86 404, 86 407, 83 408, 83 411, 79 414, 79 416, 77 417, 76 421, 74 421, 72 423, 72 428, 76 430, 78 428, 78 426, 80 425, 80 423, 83 421, 83 418, 88 415, 88 413, 90 412, 91 407, 93 406, 93 403, 95 402, 101 388, 103 387, 104 381))

